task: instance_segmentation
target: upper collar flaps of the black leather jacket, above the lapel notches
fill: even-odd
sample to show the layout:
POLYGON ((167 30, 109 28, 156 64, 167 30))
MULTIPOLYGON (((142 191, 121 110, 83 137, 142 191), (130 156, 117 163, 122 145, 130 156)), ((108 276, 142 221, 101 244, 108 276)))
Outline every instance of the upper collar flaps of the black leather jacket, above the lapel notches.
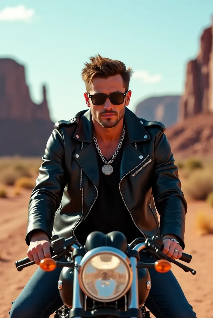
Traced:
MULTIPOLYGON (((85 110, 81 112, 80 122, 74 134, 74 139, 81 142, 91 143, 93 141, 93 121, 91 110, 85 110)), ((143 123, 139 121, 139 118, 126 107, 124 122, 126 127, 127 139, 130 143, 142 142, 150 139, 150 135, 143 127, 143 123)))

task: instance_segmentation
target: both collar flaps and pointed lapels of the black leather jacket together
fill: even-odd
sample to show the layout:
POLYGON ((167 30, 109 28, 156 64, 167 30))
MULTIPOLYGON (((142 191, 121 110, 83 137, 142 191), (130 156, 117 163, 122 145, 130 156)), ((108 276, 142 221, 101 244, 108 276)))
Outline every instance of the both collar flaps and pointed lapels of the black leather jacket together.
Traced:
MULTIPOLYGON (((140 164, 140 162, 142 162, 145 158, 144 154, 132 146, 132 144, 135 142, 144 142, 151 138, 143 127, 142 123, 139 121, 138 117, 127 107, 125 111, 124 122, 127 138, 121 159, 120 179, 122 179, 128 172, 140 164), (143 156, 143 158, 140 159, 139 156, 143 156)), ((73 138, 79 142, 86 142, 87 144, 89 143, 87 147, 75 153, 73 156, 85 174, 98 188, 99 170, 97 150, 93 142, 93 122, 90 109, 83 112, 73 138)))

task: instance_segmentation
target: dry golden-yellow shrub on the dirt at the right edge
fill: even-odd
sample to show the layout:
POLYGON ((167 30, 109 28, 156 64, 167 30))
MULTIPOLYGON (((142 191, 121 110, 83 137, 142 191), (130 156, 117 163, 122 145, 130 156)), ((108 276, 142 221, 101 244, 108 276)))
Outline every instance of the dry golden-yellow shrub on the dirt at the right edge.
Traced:
POLYGON ((198 211, 195 226, 199 235, 213 234, 213 215, 206 211, 198 211))

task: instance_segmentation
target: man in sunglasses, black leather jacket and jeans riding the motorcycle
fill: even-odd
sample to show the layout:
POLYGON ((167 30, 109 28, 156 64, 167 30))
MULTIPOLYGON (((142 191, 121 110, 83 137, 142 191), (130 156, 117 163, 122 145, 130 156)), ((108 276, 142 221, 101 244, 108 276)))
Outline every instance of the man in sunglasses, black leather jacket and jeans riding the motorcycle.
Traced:
MULTIPOLYGON (((36 264, 50 257, 52 234, 74 235, 84 244, 97 230, 121 231, 128 243, 158 234, 164 252, 181 257, 187 204, 178 169, 164 125, 138 118, 126 108, 131 75, 124 63, 100 55, 85 63, 82 78, 89 110, 55 124, 29 202, 27 255, 36 264)), ((141 254, 142 261, 153 261, 141 254)), ((13 303, 10 317, 45 318, 57 310, 62 305, 60 271, 38 269, 13 303)), ((196 317, 171 271, 150 269, 150 275, 145 305, 156 318, 196 317)))

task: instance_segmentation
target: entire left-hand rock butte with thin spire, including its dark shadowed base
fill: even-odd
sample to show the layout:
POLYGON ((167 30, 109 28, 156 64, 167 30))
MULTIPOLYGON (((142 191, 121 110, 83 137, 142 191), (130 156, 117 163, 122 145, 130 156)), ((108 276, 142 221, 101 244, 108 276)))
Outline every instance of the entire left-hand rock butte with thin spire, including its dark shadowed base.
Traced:
POLYGON ((0 59, 0 156, 42 156, 53 129, 45 86, 43 101, 36 105, 25 82, 24 66, 0 59))

